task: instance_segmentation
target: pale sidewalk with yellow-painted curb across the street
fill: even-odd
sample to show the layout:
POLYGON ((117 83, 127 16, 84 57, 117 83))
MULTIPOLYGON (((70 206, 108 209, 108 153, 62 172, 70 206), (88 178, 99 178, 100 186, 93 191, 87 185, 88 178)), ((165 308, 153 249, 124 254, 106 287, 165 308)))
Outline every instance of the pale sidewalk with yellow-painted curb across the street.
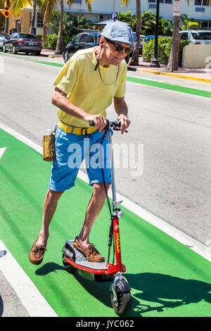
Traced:
MULTIPOLYGON (((41 55, 51 58, 63 58, 63 54, 56 55, 53 49, 42 49, 41 55)), ((142 71, 143 73, 151 73, 155 75, 166 75, 170 77, 183 78, 186 80, 198 80, 200 82, 211 82, 211 68, 210 69, 190 69, 178 68, 177 71, 171 73, 167 71, 167 65, 160 64, 160 68, 151 68, 151 63, 143 62, 142 57, 139 58, 139 65, 128 65, 131 71, 142 71)))

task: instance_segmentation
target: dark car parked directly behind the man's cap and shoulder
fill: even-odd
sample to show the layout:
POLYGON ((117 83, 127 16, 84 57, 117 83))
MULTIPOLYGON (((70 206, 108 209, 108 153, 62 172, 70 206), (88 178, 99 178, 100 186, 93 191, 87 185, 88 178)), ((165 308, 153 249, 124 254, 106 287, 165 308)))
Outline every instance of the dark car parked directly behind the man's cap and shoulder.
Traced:
MULTIPOLYGON (((79 49, 89 49, 90 47, 98 46, 100 37, 101 32, 98 31, 81 32, 76 35, 72 41, 68 42, 63 52, 65 63, 79 49)), ((125 61, 129 62, 129 55, 125 58, 125 61)))

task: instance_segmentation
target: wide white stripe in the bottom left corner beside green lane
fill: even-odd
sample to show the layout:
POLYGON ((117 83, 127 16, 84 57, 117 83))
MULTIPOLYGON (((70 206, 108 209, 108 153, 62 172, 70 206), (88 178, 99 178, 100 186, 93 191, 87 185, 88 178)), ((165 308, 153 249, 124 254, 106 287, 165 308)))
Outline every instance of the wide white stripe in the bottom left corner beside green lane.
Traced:
POLYGON ((55 311, 1 240, 0 269, 31 317, 57 317, 55 311))

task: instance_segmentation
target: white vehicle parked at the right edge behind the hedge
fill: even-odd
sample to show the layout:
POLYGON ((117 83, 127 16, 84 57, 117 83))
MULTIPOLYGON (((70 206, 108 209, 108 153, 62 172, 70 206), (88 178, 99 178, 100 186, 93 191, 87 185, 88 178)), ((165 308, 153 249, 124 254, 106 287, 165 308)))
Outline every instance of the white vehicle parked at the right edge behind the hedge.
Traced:
POLYGON ((211 44, 211 30, 180 31, 179 39, 188 39, 189 44, 211 44))

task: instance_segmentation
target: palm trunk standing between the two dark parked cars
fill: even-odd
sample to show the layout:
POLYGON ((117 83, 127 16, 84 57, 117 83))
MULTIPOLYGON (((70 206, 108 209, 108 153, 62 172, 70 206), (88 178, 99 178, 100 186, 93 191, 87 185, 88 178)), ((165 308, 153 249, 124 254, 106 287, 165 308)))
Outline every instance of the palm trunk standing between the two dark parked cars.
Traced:
MULTIPOLYGON (((91 2, 93 0, 85 0, 88 10, 91 11, 91 2)), ((65 0, 65 2, 71 6, 73 0, 65 0)), ((58 29, 58 39, 56 44, 55 54, 63 54, 63 17, 64 17, 64 0, 60 0, 60 23, 58 29)))

